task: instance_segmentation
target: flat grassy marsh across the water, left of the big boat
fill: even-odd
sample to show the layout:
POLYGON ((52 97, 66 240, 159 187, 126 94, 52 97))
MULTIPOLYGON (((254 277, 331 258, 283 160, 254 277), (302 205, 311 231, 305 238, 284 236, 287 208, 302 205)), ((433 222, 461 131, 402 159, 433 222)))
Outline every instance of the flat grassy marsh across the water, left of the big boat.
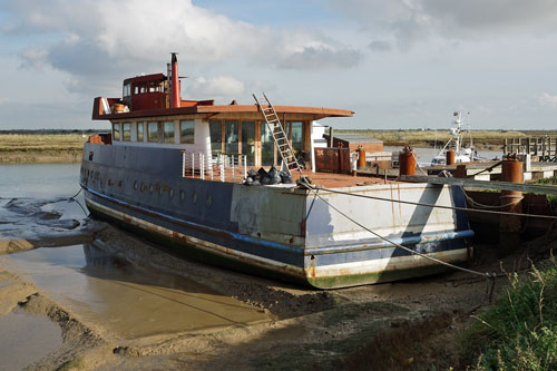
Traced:
POLYGON ((74 163, 81 159, 84 134, 0 134, 0 163, 74 163))

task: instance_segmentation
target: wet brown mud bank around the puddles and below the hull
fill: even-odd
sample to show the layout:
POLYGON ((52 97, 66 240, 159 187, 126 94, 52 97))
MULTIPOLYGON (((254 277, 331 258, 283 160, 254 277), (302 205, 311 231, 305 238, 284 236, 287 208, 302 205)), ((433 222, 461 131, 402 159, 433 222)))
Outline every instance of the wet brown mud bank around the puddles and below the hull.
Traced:
MULTIPOLYGON (((31 370, 338 369, 377 334, 440 314, 450 318, 451 324, 443 328, 447 333, 463 326, 470 315, 485 310, 489 300, 483 279, 460 272, 326 292, 305 290, 177 258, 101 222, 86 221, 75 226, 61 216, 41 214, 40 205, 21 207, 18 202, 4 203, 4 213, 6 209, 10 217, 56 223, 27 231, 25 236, 10 235, 4 225, 0 230, 0 254, 18 255, 40 246, 92 241, 96 248, 137 270, 155 269, 197 282, 260 313, 257 320, 246 323, 124 336, 107 325, 109 318, 87 315, 80 305, 59 300, 0 256, 0 320, 19 311, 48 319, 59 328, 60 335, 52 336, 61 336, 61 345, 30 360, 31 370), (56 241, 55 236, 62 240, 56 241)), ((526 256, 546 256, 557 247, 557 235, 554 231, 536 243, 525 244, 525 252, 502 263, 494 250, 482 247, 475 267, 499 272, 494 294, 497 296, 507 281, 500 264, 506 271, 526 269, 526 256)), ((111 297, 118 300, 117 295, 111 297)), ((135 314, 134 307, 123 311, 135 314)), ((33 334, 20 335, 25 341, 33 334)))

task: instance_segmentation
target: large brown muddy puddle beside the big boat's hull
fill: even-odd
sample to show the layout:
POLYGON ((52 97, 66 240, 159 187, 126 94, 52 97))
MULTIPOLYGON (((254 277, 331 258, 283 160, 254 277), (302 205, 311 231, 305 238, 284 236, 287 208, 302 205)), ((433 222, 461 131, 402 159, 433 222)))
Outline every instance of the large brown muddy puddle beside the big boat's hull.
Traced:
POLYGON ((0 263, 124 339, 272 320, 201 282, 138 269, 89 244, 1 256, 0 263))

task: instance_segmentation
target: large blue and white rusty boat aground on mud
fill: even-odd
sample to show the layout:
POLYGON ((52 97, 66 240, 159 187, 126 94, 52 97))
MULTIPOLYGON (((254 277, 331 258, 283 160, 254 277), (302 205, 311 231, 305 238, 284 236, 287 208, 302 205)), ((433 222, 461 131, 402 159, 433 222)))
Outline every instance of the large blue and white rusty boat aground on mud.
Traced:
POLYGON ((111 130, 84 146, 80 185, 92 217, 180 256, 317 289, 447 270, 427 257, 470 258, 466 212, 400 203, 466 207, 460 188, 316 170, 313 124, 353 111, 275 106, 266 96, 182 99, 176 53, 166 72, 125 79, 119 98, 95 98, 92 119, 111 130), (305 168, 293 159, 300 153, 305 168))

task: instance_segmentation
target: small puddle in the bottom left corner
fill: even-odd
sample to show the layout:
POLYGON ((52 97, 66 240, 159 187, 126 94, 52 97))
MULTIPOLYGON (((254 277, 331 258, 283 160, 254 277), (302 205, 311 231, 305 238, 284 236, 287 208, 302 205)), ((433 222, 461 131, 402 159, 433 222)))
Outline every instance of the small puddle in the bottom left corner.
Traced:
POLYGON ((58 325, 22 310, 0 316, 0 370, 21 370, 62 344, 58 325))

